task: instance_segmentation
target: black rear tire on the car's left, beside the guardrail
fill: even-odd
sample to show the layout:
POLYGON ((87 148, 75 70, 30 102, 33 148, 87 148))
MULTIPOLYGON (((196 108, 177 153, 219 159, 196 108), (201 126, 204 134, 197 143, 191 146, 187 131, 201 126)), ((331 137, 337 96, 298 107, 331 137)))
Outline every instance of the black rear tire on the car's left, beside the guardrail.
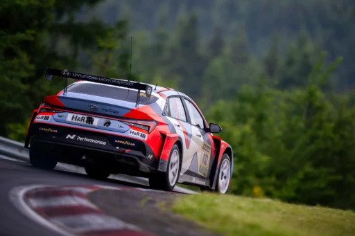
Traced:
POLYGON ((40 145, 39 143, 33 143, 30 146, 30 163, 34 167, 38 167, 44 170, 53 170, 58 163, 55 149, 50 145, 40 145))

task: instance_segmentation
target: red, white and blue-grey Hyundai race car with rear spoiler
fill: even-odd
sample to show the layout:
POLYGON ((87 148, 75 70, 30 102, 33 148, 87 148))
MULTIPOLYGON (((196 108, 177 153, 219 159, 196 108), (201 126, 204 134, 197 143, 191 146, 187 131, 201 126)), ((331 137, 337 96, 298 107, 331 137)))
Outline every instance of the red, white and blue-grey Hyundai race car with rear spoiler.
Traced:
POLYGON ((46 69, 46 79, 65 78, 64 89, 33 111, 25 147, 35 167, 58 162, 85 167, 106 179, 128 174, 150 188, 176 183, 225 194, 233 171, 232 147, 213 134, 189 96, 157 85, 46 69), (68 85, 68 78, 77 80, 68 85))

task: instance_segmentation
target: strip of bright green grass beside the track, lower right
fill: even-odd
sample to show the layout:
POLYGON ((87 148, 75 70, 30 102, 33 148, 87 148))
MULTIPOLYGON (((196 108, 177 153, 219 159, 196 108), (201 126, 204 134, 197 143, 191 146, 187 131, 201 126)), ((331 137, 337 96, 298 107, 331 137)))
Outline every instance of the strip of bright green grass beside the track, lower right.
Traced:
POLYGON ((173 212, 223 235, 355 235, 355 212, 233 195, 191 194, 173 212))

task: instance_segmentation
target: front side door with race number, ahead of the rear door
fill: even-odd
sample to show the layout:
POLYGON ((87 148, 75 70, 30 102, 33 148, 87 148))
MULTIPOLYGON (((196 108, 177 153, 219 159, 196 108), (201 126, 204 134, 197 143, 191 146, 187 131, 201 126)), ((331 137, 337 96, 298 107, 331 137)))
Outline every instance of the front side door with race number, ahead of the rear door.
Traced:
POLYGON ((211 134, 205 131, 206 123, 202 118, 200 111, 190 100, 184 98, 184 104, 187 107, 189 114, 189 120, 191 122, 191 139, 193 143, 198 145, 198 162, 197 162, 197 174, 204 178, 209 177, 209 172, 211 170, 212 161, 211 159, 214 156, 214 143, 211 138, 211 134))

